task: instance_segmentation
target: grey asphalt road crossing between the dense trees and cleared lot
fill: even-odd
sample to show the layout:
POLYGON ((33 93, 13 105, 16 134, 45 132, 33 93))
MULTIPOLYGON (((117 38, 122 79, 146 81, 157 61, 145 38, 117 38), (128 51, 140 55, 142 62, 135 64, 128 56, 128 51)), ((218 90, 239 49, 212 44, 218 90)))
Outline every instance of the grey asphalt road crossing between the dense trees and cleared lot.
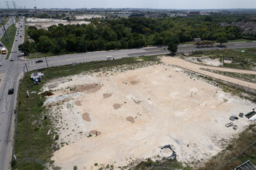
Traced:
MULTIPOLYGON (((196 48, 195 45, 181 45, 178 46, 178 52, 189 52, 189 51, 199 51, 199 50, 210 50, 210 49, 237 49, 237 48, 248 48, 256 47, 255 42, 231 42, 228 43, 226 47, 220 48, 217 46, 213 47, 204 47, 196 48)), ((48 66, 63 66, 71 63, 84 63, 96 60, 104 60, 106 56, 112 56, 112 58, 120 59, 123 57, 131 56, 150 56, 150 55, 162 55, 168 54, 167 46, 155 46, 155 47, 146 47, 141 49, 121 49, 121 50, 112 50, 112 51, 99 51, 99 52, 90 52, 90 53, 78 53, 78 54, 69 54, 64 56, 51 56, 47 57, 47 62, 45 58, 40 58, 43 60, 43 63, 36 63, 37 59, 26 59, 25 63, 28 67, 28 70, 37 70, 41 68, 46 68, 48 66)))

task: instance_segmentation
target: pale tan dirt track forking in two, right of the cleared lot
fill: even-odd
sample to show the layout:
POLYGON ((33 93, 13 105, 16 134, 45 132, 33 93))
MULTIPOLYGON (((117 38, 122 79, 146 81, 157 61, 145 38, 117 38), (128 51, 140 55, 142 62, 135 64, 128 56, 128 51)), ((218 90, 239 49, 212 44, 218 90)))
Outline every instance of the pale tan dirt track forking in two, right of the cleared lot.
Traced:
POLYGON ((247 81, 244 81, 244 80, 239 80, 239 79, 236 79, 236 78, 232 78, 230 76, 223 76, 223 75, 220 75, 218 73, 212 73, 212 72, 202 70, 202 69, 226 71, 226 72, 231 72, 231 73, 246 73, 246 74, 256 75, 255 71, 236 70, 236 69, 228 69, 228 68, 215 67, 215 66, 202 66, 202 65, 199 65, 199 64, 191 63, 191 62, 186 61, 184 59, 179 59, 177 57, 167 57, 167 56, 162 57, 162 61, 164 63, 168 63, 168 64, 171 64, 171 65, 174 65, 174 66, 182 67, 186 70, 191 70, 193 72, 200 73, 200 74, 203 74, 203 75, 206 75, 206 76, 212 76, 213 78, 216 78, 216 79, 224 80, 224 81, 227 81, 229 83, 238 84, 240 86, 249 87, 251 89, 256 90, 256 83, 251 83, 251 82, 247 82, 247 81))

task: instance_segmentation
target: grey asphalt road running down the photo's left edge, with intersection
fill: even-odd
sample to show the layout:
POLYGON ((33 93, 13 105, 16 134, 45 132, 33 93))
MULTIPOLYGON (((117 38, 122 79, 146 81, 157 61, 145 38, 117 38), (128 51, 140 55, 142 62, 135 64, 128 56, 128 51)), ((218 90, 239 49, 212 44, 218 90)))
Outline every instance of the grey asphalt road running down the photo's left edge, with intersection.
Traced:
MULTIPOLYGON (((16 26, 19 24, 16 23, 16 26)), ((22 38, 16 37, 17 41, 12 46, 12 51, 18 51, 19 43, 22 38)), ((10 168, 12 158, 12 138, 14 132, 14 109, 16 107, 16 97, 19 86, 19 75, 22 73, 23 65, 19 62, 17 56, 19 53, 11 53, 10 57, 14 61, 5 60, 5 55, 1 55, 2 66, 0 73, 5 73, 0 87, 0 169, 10 168), (8 95, 9 88, 14 88, 14 93, 8 95)))

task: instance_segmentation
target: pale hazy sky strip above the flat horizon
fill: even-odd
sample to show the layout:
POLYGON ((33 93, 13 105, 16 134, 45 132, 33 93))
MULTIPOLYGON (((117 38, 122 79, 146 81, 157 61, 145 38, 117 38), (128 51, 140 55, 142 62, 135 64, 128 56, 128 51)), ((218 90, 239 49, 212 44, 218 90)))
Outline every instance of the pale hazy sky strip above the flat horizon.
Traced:
MULTIPOLYGON (((34 0, 0 0, 1 8, 10 8, 12 2, 24 8, 33 8, 34 0)), ((256 8, 256 0, 35 0, 37 8, 256 8)))

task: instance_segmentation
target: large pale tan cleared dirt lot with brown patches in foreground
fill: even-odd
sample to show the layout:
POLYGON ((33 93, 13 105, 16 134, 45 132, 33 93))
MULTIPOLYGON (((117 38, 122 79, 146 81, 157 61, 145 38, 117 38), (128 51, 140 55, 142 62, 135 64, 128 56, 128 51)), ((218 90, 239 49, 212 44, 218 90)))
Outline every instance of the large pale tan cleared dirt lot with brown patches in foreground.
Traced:
POLYGON ((47 83, 43 90, 54 96, 45 104, 52 102, 62 145, 54 164, 118 168, 167 157, 172 151, 161 147, 171 145, 178 161, 201 165, 221 151, 223 139, 249 124, 244 117, 234 121, 237 131, 225 128, 230 114, 247 113, 254 104, 189 76, 171 66, 171 59, 125 73, 86 73, 47 83))

